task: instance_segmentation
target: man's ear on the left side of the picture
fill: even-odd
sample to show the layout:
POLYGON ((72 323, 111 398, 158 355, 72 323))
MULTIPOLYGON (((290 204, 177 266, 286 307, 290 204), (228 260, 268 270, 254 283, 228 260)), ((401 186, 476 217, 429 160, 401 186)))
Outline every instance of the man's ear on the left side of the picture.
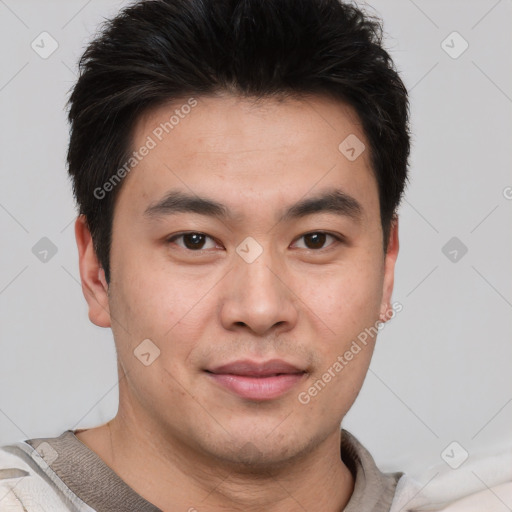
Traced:
POLYGON ((75 238, 78 246, 82 292, 89 305, 89 320, 99 327, 110 327, 105 272, 96 257, 91 232, 84 215, 79 215, 76 219, 75 238))

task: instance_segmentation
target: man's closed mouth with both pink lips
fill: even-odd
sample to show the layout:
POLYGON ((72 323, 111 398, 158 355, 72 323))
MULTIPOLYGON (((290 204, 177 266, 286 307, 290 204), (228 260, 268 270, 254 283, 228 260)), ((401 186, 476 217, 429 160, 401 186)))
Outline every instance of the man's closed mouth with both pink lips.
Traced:
POLYGON ((235 361, 205 370, 209 378, 241 398, 255 401, 279 398, 297 386, 307 372, 286 361, 235 361))

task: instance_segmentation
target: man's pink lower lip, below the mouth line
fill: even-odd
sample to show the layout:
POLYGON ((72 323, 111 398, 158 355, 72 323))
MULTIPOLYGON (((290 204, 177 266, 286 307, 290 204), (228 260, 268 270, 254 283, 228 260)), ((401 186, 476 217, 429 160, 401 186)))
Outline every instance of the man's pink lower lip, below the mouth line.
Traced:
POLYGON ((303 378, 305 373, 283 373, 272 377, 247 377, 228 373, 209 373, 224 388, 248 400, 272 400, 278 398, 303 378))

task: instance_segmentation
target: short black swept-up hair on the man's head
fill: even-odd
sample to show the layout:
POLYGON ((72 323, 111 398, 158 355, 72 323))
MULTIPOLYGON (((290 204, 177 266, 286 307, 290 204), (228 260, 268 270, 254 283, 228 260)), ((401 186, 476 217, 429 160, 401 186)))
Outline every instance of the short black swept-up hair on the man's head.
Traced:
POLYGON ((410 134, 407 90, 382 43, 380 20, 339 0, 143 0, 107 21, 79 62, 67 155, 107 282, 121 185, 95 191, 126 165, 135 123, 175 98, 224 91, 352 106, 370 144, 386 250, 410 134))

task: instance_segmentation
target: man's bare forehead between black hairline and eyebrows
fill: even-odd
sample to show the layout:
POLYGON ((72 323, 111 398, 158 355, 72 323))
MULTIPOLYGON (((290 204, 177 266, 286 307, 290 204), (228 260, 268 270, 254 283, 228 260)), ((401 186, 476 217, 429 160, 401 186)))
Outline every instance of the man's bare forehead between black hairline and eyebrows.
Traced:
POLYGON ((262 203, 281 208, 326 188, 378 201, 358 116, 324 97, 182 98, 144 113, 132 148, 140 160, 120 196, 138 215, 176 189, 222 198, 240 215, 254 215, 262 203), (354 152, 347 154, 348 146, 361 154, 349 158, 354 152))

